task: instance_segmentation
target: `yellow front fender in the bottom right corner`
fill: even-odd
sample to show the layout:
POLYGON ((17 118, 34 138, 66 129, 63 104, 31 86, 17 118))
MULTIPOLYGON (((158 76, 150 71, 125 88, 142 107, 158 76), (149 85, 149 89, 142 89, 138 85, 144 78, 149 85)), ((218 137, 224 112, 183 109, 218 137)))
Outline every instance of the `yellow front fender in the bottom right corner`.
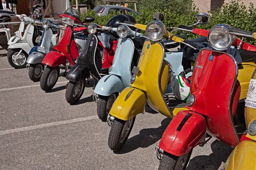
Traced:
POLYGON ((256 170, 256 142, 240 142, 225 163, 226 170, 256 170))

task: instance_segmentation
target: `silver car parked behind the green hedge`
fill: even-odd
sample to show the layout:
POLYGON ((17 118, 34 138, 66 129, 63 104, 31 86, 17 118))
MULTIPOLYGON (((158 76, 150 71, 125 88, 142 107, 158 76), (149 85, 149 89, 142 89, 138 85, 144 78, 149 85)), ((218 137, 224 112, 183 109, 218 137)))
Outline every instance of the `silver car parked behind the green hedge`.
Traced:
POLYGON ((105 5, 105 6, 96 6, 95 8, 93 8, 93 11, 96 11, 98 15, 107 15, 109 14, 110 10, 116 10, 120 14, 139 15, 139 13, 134 11, 133 9, 122 7, 122 6, 105 5))

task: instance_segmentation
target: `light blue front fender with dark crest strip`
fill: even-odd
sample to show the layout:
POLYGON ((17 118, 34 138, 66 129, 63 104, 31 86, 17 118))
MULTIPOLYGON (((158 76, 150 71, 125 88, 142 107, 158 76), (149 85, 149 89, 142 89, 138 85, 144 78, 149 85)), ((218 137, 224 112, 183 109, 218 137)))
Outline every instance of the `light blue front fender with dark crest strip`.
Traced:
POLYGON ((94 93, 102 96, 110 96, 113 93, 121 93, 124 89, 122 80, 119 77, 110 74, 102 77, 97 83, 94 93))

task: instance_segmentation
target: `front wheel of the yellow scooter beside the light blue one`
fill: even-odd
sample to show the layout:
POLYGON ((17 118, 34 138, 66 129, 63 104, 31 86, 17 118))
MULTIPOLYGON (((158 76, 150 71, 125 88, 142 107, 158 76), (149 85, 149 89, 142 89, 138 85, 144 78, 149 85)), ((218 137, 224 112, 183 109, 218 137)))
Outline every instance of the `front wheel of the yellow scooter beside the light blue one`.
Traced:
POLYGON ((108 147, 113 151, 122 149, 135 122, 135 117, 124 121, 115 118, 108 136, 108 147))

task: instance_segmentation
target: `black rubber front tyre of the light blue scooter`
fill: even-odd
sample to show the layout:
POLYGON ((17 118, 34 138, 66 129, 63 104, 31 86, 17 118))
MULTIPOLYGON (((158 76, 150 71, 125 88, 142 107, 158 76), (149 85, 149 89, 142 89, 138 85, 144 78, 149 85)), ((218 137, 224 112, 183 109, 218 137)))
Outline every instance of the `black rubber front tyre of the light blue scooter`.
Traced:
MULTIPOLYGON (((115 100, 118 96, 118 94, 111 94, 111 95, 115 95, 115 100)), ((103 122, 107 121, 107 117, 108 117, 108 100, 110 99, 111 96, 101 96, 99 95, 99 100, 97 102, 97 115, 99 117, 99 119, 101 119, 103 122)), ((113 102, 115 102, 115 100, 113 102)), ((113 102, 111 102, 111 107, 113 105, 113 102)), ((110 110, 110 109, 109 109, 110 110)))

